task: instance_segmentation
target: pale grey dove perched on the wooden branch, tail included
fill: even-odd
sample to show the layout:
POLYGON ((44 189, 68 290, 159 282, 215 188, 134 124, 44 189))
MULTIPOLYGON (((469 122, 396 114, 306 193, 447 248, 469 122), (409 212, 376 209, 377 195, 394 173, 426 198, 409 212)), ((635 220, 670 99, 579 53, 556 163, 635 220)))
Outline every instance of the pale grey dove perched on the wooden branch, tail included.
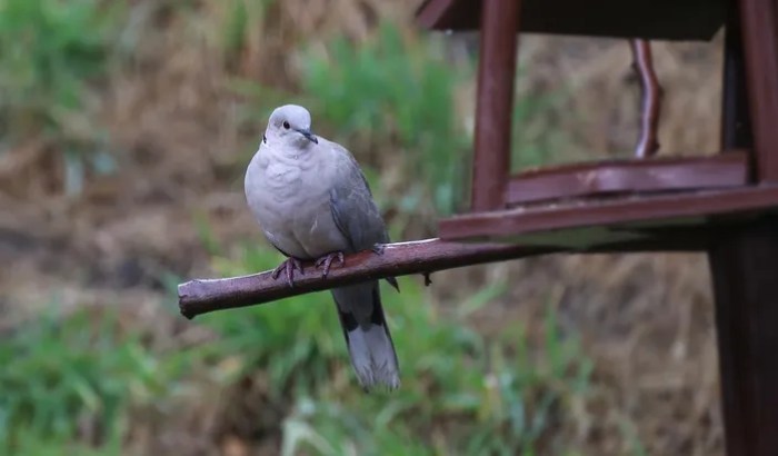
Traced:
MULTIPOLYGON (((342 146, 311 132, 308 110, 277 108, 246 171, 246 199, 268 241, 287 259, 293 286, 300 260, 316 259, 323 275, 343 254, 380 254, 389 236, 359 165, 342 146)), ((387 279, 395 288, 395 278, 387 279)), ((381 307, 378 280, 332 289, 351 364, 366 390, 400 384, 397 354, 381 307)))

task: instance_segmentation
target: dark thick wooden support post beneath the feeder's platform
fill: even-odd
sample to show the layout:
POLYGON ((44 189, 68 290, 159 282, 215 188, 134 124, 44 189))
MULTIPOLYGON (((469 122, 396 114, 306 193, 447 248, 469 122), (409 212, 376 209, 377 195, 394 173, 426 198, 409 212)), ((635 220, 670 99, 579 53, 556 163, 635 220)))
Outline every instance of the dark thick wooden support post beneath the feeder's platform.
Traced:
POLYGON ((778 454, 778 222, 709 250, 729 456, 778 454))

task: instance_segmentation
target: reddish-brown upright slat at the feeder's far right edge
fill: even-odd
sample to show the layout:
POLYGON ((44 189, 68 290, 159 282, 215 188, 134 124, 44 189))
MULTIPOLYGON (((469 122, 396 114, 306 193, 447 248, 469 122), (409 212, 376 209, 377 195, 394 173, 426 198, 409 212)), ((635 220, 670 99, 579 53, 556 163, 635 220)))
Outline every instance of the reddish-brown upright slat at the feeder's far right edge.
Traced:
POLYGON ((757 178, 778 182, 778 6, 740 0, 757 178))

